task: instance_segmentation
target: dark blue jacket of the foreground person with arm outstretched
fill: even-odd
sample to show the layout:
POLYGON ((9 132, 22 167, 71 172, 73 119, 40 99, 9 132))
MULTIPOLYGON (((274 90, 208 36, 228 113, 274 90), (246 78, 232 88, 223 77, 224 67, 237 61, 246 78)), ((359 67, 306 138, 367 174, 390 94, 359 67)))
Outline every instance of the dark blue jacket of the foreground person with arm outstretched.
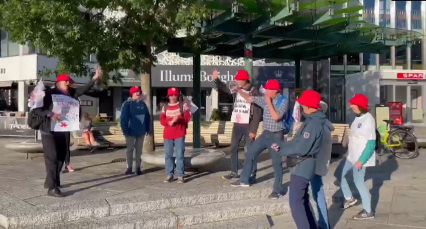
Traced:
POLYGON ((315 158, 322 149, 324 124, 328 119, 323 112, 319 111, 304 114, 304 116, 305 121, 293 139, 277 144, 283 156, 313 156, 300 162, 292 171, 295 175, 311 180, 315 174, 315 158))

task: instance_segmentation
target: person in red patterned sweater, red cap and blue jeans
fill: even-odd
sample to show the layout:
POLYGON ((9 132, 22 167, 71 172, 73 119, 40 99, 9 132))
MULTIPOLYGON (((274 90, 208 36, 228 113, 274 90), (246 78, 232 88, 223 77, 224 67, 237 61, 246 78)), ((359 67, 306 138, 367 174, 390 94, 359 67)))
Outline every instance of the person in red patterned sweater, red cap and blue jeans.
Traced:
POLYGON ((180 101, 181 96, 179 95, 177 87, 170 87, 167 90, 169 104, 163 106, 160 114, 160 123, 164 126, 163 138, 164 149, 166 150, 166 179, 164 182, 166 183, 174 180, 173 170, 175 167, 178 183, 185 182, 185 136, 188 122, 191 120, 191 111, 189 107, 183 104, 183 101, 180 101), (173 152, 176 153, 176 166, 173 152))

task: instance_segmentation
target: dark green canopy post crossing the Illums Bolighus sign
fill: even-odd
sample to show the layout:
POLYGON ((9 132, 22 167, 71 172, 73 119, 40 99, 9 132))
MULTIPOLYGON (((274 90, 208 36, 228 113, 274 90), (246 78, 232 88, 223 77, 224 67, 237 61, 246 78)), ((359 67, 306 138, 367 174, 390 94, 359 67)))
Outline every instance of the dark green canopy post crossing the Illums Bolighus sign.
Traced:
MULTIPOLYGON (((193 71, 193 81, 192 85, 194 88, 194 104, 198 107, 201 107, 201 55, 200 53, 194 53, 192 56, 192 71, 193 71)), ((192 118, 193 123, 193 148, 201 147, 201 113, 200 108, 195 111, 192 118)))

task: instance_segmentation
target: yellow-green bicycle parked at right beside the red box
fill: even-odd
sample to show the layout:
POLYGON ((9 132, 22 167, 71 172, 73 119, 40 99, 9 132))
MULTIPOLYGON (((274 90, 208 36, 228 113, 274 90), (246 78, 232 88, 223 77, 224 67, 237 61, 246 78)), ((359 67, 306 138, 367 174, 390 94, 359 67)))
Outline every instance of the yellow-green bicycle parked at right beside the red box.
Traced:
MULTIPOLYGON (((396 157, 401 159, 410 159, 418 153, 417 137, 410 131, 411 127, 393 125, 394 120, 383 120, 386 122, 386 129, 383 138, 380 137, 380 146, 385 146, 396 157), (402 135, 402 137, 401 137, 402 135), (400 149, 400 150, 398 150, 400 149)), ((379 134, 376 130, 376 134, 379 134)), ((382 155, 384 150, 380 147, 379 155, 382 155)))

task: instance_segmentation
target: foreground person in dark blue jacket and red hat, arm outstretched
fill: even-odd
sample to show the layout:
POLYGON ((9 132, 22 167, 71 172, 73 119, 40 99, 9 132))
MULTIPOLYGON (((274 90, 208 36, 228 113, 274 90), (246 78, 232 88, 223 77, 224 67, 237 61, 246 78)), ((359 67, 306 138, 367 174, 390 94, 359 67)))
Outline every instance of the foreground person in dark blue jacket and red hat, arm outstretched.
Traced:
POLYGON ((291 141, 276 141, 270 148, 287 156, 291 167, 289 202, 298 228, 318 228, 309 206, 309 183, 315 176, 316 158, 322 151, 324 125, 328 121, 320 112, 321 95, 315 90, 305 90, 296 99, 302 106, 305 121, 291 141))

